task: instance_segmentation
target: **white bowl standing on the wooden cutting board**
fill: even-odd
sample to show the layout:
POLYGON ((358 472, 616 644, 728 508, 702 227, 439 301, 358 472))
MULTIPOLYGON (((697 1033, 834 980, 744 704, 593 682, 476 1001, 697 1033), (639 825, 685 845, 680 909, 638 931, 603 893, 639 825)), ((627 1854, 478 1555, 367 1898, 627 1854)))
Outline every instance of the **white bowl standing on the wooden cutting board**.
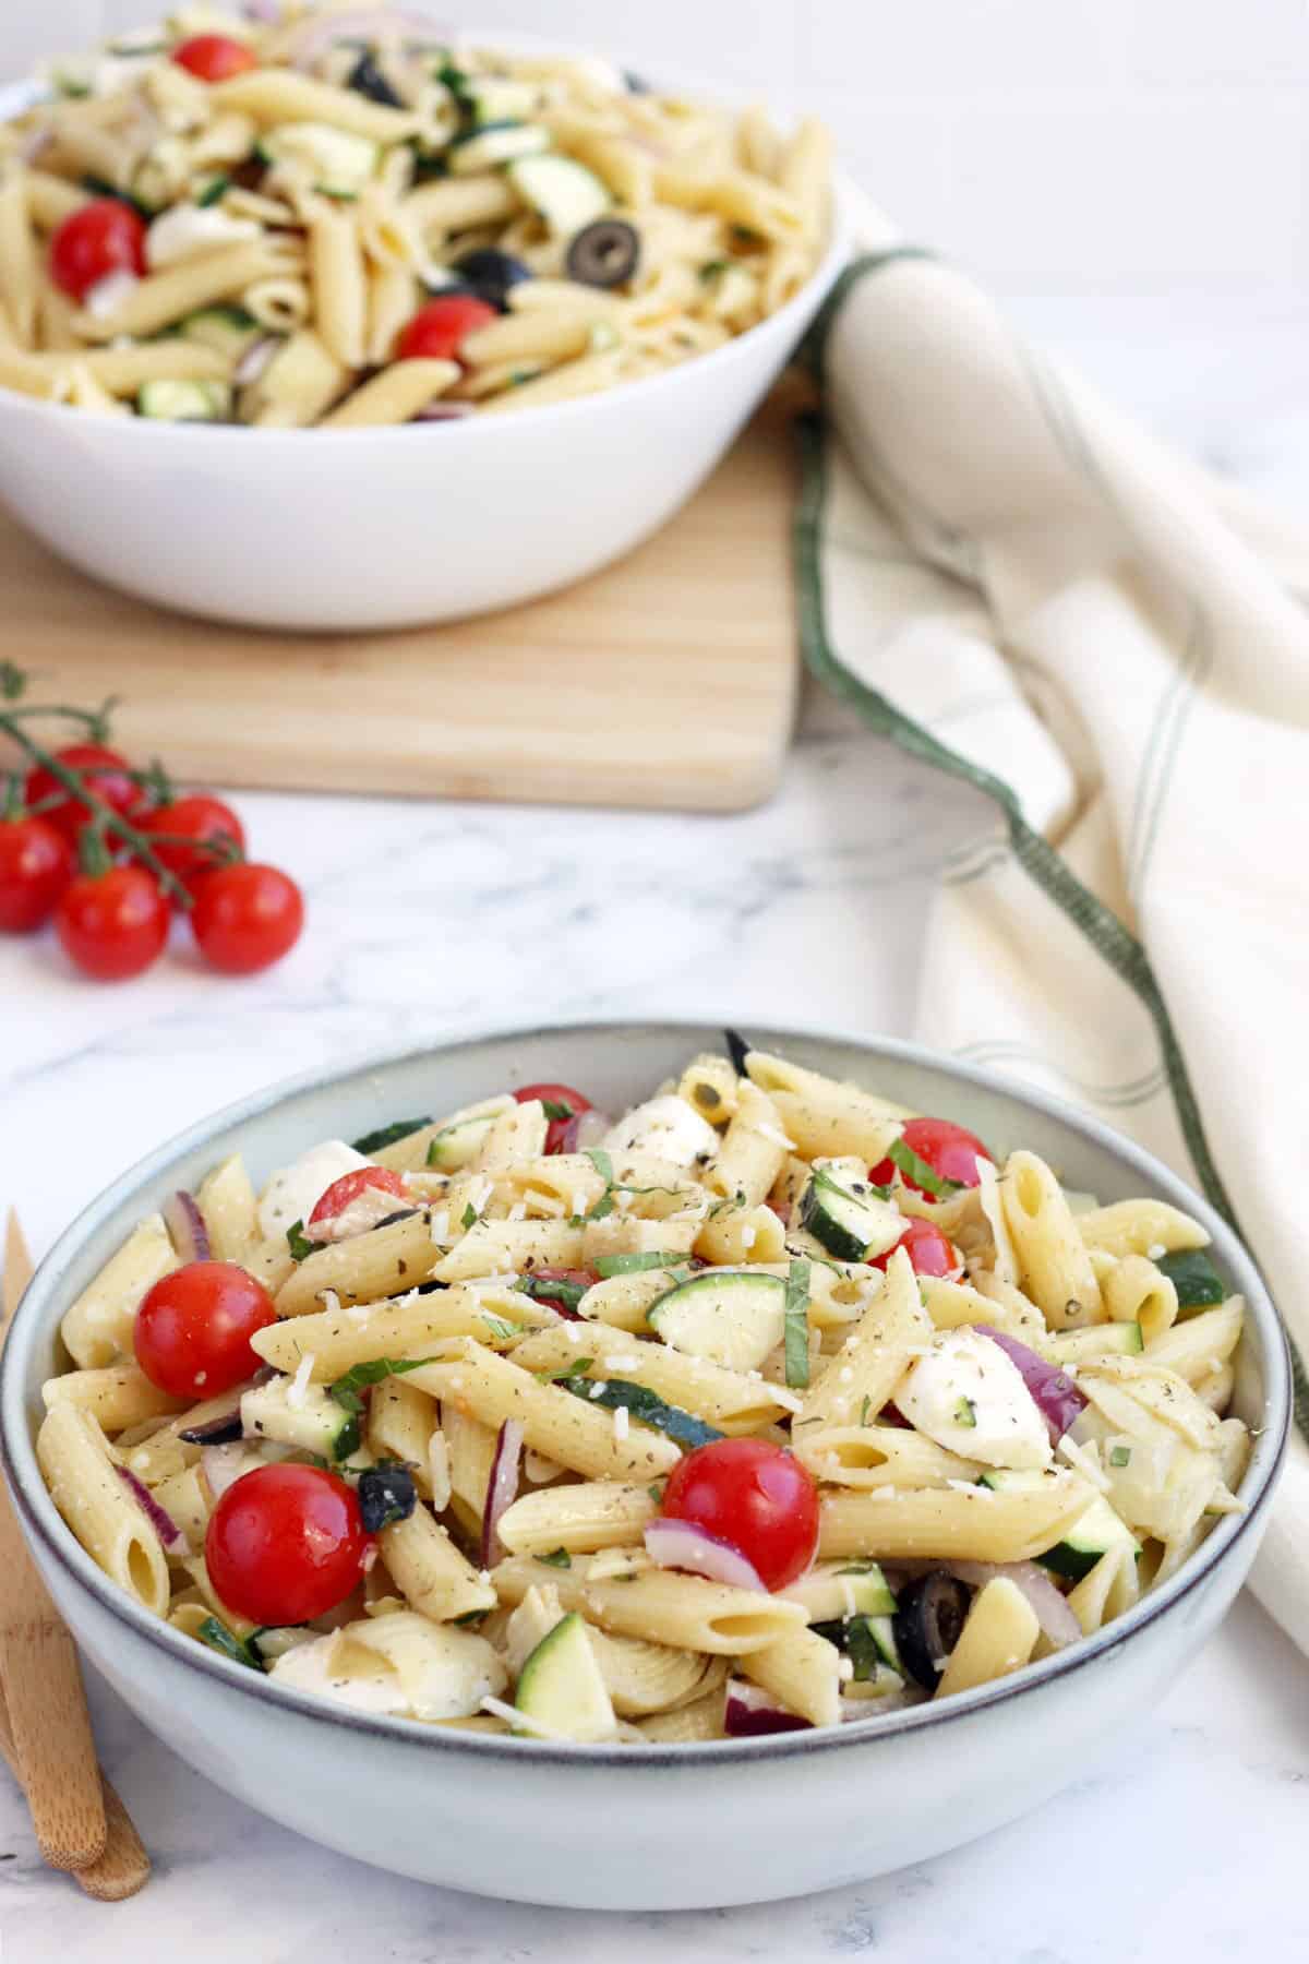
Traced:
MULTIPOLYGON (((4 104, 0 104, 0 118, 4 104)), ((394 430, 94 416, 0 389, 0 499, 141 599, 261 628, 416 627, 583 579, 685 505, 846 259, 712 354, 602 395, 394 430)))

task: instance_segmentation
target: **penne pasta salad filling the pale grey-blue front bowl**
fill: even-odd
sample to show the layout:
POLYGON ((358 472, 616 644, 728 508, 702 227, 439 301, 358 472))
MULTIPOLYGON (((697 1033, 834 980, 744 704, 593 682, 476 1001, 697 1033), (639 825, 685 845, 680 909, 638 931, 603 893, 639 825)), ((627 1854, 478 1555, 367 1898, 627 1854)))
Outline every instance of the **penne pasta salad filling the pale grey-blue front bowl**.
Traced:
POLYGON ((73 1534, 277 1685, 548 1740, 875 1718, 1121 1616, 1240 1508, 1205 1229, 728 1049, 179 1192, 63 1318, 73 1534))

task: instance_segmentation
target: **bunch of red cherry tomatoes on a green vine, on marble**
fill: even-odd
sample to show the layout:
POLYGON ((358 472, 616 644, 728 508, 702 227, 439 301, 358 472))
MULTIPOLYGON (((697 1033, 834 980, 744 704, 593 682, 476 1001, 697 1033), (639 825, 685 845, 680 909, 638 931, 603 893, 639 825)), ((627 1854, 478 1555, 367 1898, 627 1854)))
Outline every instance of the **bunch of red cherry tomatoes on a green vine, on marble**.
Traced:
POLYGON ((0 931, 47 921, 88 976, 120 982, 149 968, 184 913, 224 974, 281 960, 304 927, 304 900, 279 866, 245 858, 236 811, 208 791, 179 795, 163 770, 108 748, 104 711, 29 707, 27 678, 0 664, 0 735, 29 768, 0 786, 0 931), (90 740, 49 750, 27 719, 63 717, 90 740))

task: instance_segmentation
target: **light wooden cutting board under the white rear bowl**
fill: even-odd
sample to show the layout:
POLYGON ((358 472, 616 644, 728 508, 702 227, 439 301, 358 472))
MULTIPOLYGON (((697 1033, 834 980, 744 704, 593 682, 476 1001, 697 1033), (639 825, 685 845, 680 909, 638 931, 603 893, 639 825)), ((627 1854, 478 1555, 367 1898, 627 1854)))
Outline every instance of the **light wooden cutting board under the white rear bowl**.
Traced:
POLYGON ((39 672, 43 701, 122 697, 114 742, 190 784, 740 811, 775 788, 795 717, 793 409, 773 399, 618 566, 412 632, 161 613, 0 511, 0 654, 39 672))

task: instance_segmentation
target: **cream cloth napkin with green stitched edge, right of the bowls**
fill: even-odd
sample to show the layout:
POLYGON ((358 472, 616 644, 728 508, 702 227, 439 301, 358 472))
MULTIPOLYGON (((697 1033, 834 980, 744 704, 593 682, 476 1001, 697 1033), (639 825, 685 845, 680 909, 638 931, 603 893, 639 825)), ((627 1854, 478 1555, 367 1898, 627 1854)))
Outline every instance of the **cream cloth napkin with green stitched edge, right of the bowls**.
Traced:
MULTIPOLYGON (((805 650, 997 807, 944 868, 918 1035, 1197 1182, 1309 1355, 1309 538, 1219 515, 962 275, 862 234, 809 342, 805 650)), ((1309 1652, 1295 1385, 1252 1587, 1309 1652)))

